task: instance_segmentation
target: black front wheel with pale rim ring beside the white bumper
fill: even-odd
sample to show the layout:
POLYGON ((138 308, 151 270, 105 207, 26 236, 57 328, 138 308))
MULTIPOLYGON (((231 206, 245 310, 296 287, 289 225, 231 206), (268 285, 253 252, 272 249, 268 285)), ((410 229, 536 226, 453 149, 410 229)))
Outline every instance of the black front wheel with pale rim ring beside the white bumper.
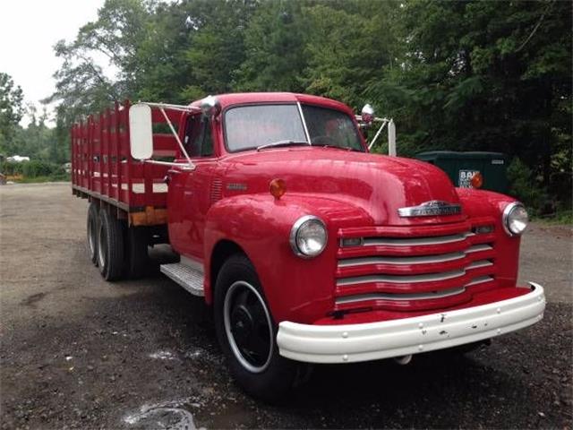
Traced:
POLYGON ((261 400, 279 400, 298 381, 302 365, 278 355, 274 323, 249 259, 236 254, 215 285, 215 329, 232 376, 261 400))

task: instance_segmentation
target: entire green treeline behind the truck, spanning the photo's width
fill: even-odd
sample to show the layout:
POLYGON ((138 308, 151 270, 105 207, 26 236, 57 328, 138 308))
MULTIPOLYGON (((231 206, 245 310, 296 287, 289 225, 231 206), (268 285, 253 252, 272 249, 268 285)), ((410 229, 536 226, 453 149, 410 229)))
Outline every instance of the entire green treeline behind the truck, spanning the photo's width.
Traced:
POLYGON ((566 213, 571 16, 572 4, 556 0, 107 0, 76 39, 56 44, 49 136, 41 115, 17 125, 21 90, 0 74, 0 153, 62 163, 73 121, 115 99, 306 92, 393 117, 398 155, 505 152, 511 193, 540 215, 566 213))

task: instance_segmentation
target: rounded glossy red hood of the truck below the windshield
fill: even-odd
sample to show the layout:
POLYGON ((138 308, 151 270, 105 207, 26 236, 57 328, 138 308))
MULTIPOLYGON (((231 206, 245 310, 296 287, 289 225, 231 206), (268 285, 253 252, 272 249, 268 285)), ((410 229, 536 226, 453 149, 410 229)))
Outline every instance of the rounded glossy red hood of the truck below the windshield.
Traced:
MULTIPOLYGON (((269 192, 281 178, 289 193, 310 193, 361 208, 374 225, 458 220, 459 216, 398 216, 398 208, 423 202, 458 203, 458 193, 439 168, 415 159, 325 147, 290 147, 244 152, 226 158, 227 184, 246 185, 246 193, 269 192)), ((225 186, 225 185, 224 185, 225 186)))

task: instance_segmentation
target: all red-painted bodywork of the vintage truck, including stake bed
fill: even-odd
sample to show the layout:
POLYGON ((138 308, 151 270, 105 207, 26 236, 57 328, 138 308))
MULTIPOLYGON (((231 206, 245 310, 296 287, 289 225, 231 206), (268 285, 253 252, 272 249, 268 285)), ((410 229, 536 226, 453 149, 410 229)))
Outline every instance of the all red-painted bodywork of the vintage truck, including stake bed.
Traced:
MULTIPOLYGON (((501 212, 514 199, 498 193, 455 188, 439 168, 413 159, 386 157, 365 152, 324 147, 286 147, 229 153, 224 144, 224 117, 228 107, 250 103, 295 103, 319 105, 345 112, 338 101, 290 93, 224 94, 218 96, 222 113, 211 122, 214 140, 212 157, 193 159, 194 170, 185 170, 182 154, 173 137, 155 135, 155 155, 175 156, 181 168, 166 168, 137 162, 129 156, 129 103, 115 107, 111 146, 102 138, 87 136, 84 125, 72 130, 73 184, 111 194, 130 208, 152 205, 168 208, 168 228, 175 251, 201 262, 205 268, 205 299, 212 300, 211 269, 216 249, 223 241, 240 247, 251 259, 261 280, 269 307, 277 323, 369 323, 440 310, 483 305, 525 294, 516 288, 519 237, 509 237, 501 225, 501 212), (105 141, 105 142, 104 142, 105 141), (117 147, 114 147, 114 144, 117 147), (101 146, 99 146, 101 145, 101 146), (115 164, 105 165, 113 150, 115 164), (85 163, 88 162, 86 165, 85 163), (102 163, 104 166, 102 166, 102 163), (167 173, 167 170, 169 172, 167 173), (101 172, 108 172, 101 186, 101 172), (170 177, 168 195, 153 193, 152 185, 170 177), (282 179, 286 193, 279 199, 269 193, 273 179, 282 179), (133 185, 145 185, 145 193, 134 193, 133 185), (398 208, 432 200, 459 203, 458 215, 401 218, 398 208), (324 252, 313 259, 301 259, 289 245, 296 219, 316 215, 329 233, 324 252), (476 227, 492 226, 491 233, 472 234, 476 227), (439 237, 466 235, 451 243, 433 245, 341 245, 351 237, 439 237), (372 263, 339 267, 339 261, 363 257, 411 257, 463 253, 471 246, 483 249, 448 262, 396 266, 372 263), (491 262, 468 268, 472 262, 491 262), (384 274, 419 275, 464 271, 458 278, 428 282, 372 281, 344 286, 345 278, 384 274), (463 294, 425 300, 370 299, 352 303, 343 297, 372 293, 423 293, 459 288, 479 277, 492 277, 469 285, 463 294)), ((199 102, 194 102, 198 106, 199 102)), ((188 114, 167 111, 184 137, 188 114)), ((156 110, 156 123, 164 121, 156 110)), ((94 135, 109 125, 109 114, 99 121, 89 119, 94 135)), ((256 133, 253 130, 252 133, 256 133)))

